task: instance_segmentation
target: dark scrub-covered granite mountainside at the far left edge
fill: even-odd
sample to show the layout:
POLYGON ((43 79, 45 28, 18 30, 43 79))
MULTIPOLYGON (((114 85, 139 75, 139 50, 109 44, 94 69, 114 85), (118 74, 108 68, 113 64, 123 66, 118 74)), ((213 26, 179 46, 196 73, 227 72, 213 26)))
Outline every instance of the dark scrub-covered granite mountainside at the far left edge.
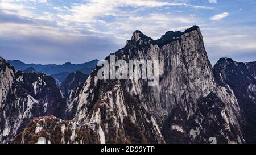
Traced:
POLYGON ((0 58, 0 142, 9 143, 35 116, 61 117, 65 102, 52 77, 17 71, 0 58))

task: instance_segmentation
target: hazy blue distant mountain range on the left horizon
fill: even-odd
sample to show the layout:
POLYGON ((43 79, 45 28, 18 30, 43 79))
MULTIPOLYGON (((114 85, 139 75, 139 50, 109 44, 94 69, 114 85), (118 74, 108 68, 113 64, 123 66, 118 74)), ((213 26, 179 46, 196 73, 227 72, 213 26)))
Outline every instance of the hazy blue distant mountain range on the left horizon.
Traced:
POLYGON ((63 82, 63 80, 68 77, 68 74, 72 72, 80 71, 86 75, 89 75, 90 72, 92 72, 92 70, 96 67, 98 60, 95 59, 83 64, 71 64, 71 62, 67 62, 62 65, 26 64, 20 60, 7 60, 7 62, 14 66, 15 69, 22 70, 25 73, 38 72, 51 75, 53 78, 55 78, 57 85, 60 86, 61 82, 63 82))

